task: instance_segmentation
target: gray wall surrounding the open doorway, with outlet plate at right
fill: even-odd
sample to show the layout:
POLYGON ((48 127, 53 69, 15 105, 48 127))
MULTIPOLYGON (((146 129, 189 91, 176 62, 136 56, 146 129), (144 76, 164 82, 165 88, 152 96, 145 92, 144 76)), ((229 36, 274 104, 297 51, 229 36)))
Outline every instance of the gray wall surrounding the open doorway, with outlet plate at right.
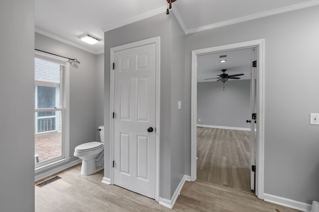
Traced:
MULTIPOLYGON (((186 36, 185 140, 190 155, 191 50, 265 38, 265 187, 267 194, 319 200, 319 6, 186 36), (305 75, 306 74, 306 75, 305 75)), ((190 174, 190 158, 186 161, 190 174)))

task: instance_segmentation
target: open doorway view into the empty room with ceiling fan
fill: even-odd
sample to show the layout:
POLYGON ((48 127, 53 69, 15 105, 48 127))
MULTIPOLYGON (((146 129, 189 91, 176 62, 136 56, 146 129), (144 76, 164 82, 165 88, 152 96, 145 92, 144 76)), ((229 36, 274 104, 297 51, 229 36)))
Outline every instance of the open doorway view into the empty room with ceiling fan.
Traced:
POLYGON ((255 113, 252 61, 252 48, 197 57, 197 180, 249 193, 256 164, 255 124, 247 120, 255 113))

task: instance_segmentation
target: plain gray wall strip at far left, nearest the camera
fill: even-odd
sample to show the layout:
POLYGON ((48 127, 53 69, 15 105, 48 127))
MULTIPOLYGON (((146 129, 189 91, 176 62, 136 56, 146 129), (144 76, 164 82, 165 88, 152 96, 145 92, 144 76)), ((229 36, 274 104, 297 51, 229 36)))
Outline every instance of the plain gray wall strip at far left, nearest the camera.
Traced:
POLYGON ((34 211, 34 1, 0 1, 0 211, 34 211))

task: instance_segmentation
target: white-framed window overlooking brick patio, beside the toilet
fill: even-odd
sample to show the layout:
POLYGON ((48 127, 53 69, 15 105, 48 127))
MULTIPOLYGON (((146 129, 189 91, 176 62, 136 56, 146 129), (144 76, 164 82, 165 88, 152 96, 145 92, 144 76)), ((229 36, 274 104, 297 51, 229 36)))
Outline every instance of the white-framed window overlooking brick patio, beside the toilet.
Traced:
POLYGON ((35 173, 69 159, 68 72, 65 61, 35 55, 35 173))

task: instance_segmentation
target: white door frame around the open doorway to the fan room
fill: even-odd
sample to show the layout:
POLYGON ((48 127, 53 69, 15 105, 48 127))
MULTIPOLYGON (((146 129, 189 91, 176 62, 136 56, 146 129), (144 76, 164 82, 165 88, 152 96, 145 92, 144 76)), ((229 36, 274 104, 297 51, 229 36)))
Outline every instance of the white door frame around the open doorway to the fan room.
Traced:
POLYGON ((236 49, 257 49, 257 161, 256 161, 256 195, 264 199, 264 120, 265 120, 265 39, 210 47, 192 51, 191 66, 191 168, 190 179, 196 180, 196 126, 197 126, 197 56, 236 49))

